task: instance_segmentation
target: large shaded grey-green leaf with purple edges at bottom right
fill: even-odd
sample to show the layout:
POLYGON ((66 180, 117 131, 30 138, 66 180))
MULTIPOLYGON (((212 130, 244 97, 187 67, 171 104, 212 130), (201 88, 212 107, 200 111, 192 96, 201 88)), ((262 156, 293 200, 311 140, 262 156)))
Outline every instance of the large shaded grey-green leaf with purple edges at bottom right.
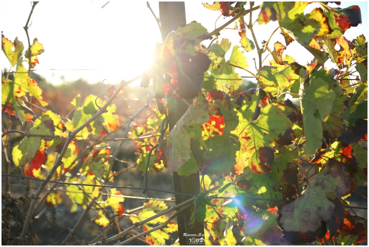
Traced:
POLYGON ((324 169, 311 178, 306 191, 279 211, 280 225, 289 232, 316 231, 322 221, 331 219, 334 199, 345 196, 349 189, 344 164, 330 159, 324 169))

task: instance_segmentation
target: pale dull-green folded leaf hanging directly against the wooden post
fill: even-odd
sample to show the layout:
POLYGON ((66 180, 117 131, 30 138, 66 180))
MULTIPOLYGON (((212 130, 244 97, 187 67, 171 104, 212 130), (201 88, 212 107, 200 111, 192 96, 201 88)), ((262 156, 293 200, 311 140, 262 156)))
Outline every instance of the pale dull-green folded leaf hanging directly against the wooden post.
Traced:
POLYGON ((186 126, 198 127, 201 130, 201 125, 207 122, 208 119, 207 100, 197 102, 187 109, 170 131, 164 151, 164 157, 167 158, 167 167, 169 167, 170 172, 174 172, 191 158, 190 133, 186 130, 186 126))

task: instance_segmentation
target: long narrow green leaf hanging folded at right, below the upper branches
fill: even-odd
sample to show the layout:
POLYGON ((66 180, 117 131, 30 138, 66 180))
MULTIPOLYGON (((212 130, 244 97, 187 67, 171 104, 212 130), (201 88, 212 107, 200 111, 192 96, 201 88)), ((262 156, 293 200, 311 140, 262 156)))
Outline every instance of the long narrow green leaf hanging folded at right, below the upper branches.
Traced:
POLYGON ((336 93, 330 90, 330 76, 324 71, 314 71, 310 77, 310 85, 303 87, 301 78, 300 108, 303 114, 306 155, 310 156, 321 147, 323 141, 323 124, 332 111, 336 93))

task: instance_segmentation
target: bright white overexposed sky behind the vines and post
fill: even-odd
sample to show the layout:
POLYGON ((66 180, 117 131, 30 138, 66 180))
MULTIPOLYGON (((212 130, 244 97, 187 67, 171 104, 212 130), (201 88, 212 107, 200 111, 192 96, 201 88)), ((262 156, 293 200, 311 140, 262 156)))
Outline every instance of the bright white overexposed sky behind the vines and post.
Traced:
MULTIPOLYGON (((206 1, 204 1, 205 3, 206 1)), ((35 67, 38 74, 46 78, 54 85, 65 81, 73 81, 79 78, 90 83, 101 82, 107 79, 108 83, 118 83, 122 79, 129 80, 142 72, 151 59, 151 52, 155 42, 161 39, 158 25, 145 1, 110 1, 101 8, 106 0, 97 1, 46 1, 41 0, 36 6, 31 17, 29 34, 31 44, 34 38, 44 45, 45 52, 38 56, 39 64, 35 67), (56 69, 56 70, 50 70, 56 69), (94 69, 77 70, 75 69, 94 69)), ((149 1, 152 10, 159 17, 158 2, 149 1)), ((201 1, 186 1, 186 20, 190 23, 196 20, 207 28, 209 32, 215 28, 215 20, 220 16, 220 11, 211 11, 201 5, 201 1)), ((209 1, 212 3, 212 1, 209 1)), ((260 4, 260 2, 255 2, 260 4)), ((364 34, 368 38, 368 4, 362 2, 341 2, 340 6, 330 4, 332 7, 345 8, 359 5, 362 13, 362 22, 358 27, 347 30, 344 36, 348 40, 364 34)), ((248 5, 246 5, 248 7, 248 5)), ((307 10, 310 12, 317 5, 307 10)), ((31 2, 23 0, 0 0, 0 27, 6 38, 14 41, 15 37, 22 41, 27 49, 27 38, 23 29, 29 12, 31 2)), ((256 20, 259 11, 255 11, 253 19, 256 20)), ((229 20, 221 17, 217 27, 229 20)), ((248 20, 245 17, 245 21, 248 20)), ((234 27, 234 24, 229 26, 234 27)), ((255 25, 256 38, 259 45, 263 40, 268 40, 270 34, 277 27, 277 22, 269 22, 267 25, 255 25)), ((250 31, 246 35, 252 39, 250 31)), ((233 45, 239 45, 239 35, 236 30, 224 30, 221 38, 229 38, 233 45)), ((269 43, 273 49, 276 41, 285 44, 284 39, 277 31, 269 43)), ((25 51, 24 50, 24 51, 25 51)), ((229 52, 231 52, 232 48, 229 52)), ((301 48, 296 41, 292 42, 284 54, 296 59, 301 65, 310 62, 312 55, 301 48)), ((253 58, 257 58, 256 52, 245 52, 250 71, 256 73, 253 58)), ((269 56, 263 65, 268 65, 272 59, 269 56)), ((1 69, 9 68, 9 63, 1 52, 1 69)), ((332 65, 326 63, 328 69, 332 65)), ((242 76, 249 76, 247 72, 238 71, 242 76)))

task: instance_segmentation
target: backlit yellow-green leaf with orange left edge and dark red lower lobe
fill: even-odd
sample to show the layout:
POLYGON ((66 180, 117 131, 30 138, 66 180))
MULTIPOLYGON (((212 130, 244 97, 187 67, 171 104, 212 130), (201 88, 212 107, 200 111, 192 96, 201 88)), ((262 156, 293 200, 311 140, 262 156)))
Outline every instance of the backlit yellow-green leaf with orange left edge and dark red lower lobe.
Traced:
MULTIPOLYGON (((269 144, 278 140, 293 126, 283 110, 284 106, 279 104, 267 104, 261 107, 260 116, 255 121, 245 119, 240 112, 238 113, 239 124, 231 133, 238 136, 241 144, 238 155, 242 155, 245 163, 235 165, 235 168, 237 167, 236 174, 241 174, 244 169, 242 165, 246 164, 254 172, 272 172, 274 151, 269 144)), ((292 141, 292 139, 291 136, 290 140, 292 141)))

